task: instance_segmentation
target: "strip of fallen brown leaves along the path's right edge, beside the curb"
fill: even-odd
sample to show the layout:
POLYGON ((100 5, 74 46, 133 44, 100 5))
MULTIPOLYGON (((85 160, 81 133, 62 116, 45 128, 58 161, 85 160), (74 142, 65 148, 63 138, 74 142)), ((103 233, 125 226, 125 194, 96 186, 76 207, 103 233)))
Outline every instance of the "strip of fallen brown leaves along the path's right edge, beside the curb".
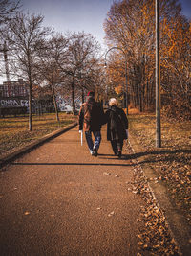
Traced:
MULTIPOLYGON (((131 148, 128 150, 131 151, 131 148)), ((139 165, 134 168, 133 192, 145 201, 138 220, 144 222, 138 234, 138 255, 180 255, 179 246, 171 236, 165 217, 139 165)))

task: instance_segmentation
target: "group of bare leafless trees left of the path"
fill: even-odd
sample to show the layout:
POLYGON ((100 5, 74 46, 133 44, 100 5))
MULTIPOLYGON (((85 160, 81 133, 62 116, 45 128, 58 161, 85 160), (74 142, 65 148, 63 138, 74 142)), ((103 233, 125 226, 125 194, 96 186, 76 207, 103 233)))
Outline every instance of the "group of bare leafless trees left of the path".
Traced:
POLYGON ((0 33, 7 43, 9 74, 29 82, 29 129, 32 130, 32 99, 50 92, 59 121, 56 95, 71 94, 84 100, 84 90, 102 95, 100 45, 85 32, 65 35, 43 26, 44 16, 19 11, 19 2, 0 0, 0 33))

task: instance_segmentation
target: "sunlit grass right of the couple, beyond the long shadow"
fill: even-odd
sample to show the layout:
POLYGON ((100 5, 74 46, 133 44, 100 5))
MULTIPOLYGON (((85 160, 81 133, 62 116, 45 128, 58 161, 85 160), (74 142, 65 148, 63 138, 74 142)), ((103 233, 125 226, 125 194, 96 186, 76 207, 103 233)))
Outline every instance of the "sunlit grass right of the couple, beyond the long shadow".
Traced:
MULTIPOLYGON (((129 115, 131 132, 147 149, 156 147, 156 117, 151 114, 129 115), (139 136, 141 134, 141 136, 139 136)), ((181 123, 161 118, 162 147, 191 147, 191 121, 181 123)))

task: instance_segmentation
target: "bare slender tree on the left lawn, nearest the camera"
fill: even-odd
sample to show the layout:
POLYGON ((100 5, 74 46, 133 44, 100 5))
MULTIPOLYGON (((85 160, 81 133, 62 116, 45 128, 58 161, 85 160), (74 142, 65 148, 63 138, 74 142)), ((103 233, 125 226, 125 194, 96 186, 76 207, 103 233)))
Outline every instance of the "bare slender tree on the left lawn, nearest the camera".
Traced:
POLYGON ((8 25, 7 39, 11 51, 11 72, 29 81, 29 130, 32 130, 32 84, 35 80, 35 63, 38 49, 49 28, 42 27, 43 16, 18 13, 8 25))

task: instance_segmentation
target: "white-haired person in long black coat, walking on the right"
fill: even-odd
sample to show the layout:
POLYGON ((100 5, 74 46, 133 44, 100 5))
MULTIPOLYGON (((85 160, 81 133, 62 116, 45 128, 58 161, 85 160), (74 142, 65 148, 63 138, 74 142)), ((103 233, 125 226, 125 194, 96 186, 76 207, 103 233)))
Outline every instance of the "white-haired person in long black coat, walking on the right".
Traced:
POLYGON ((105 113, 107 122, 107 140, 111 141, 112 149, 118 158, 121 157, 123 140, 128 136, 128 119, 122 108, 117 106, 117 100, 111 98, 109 108, 105 113))

